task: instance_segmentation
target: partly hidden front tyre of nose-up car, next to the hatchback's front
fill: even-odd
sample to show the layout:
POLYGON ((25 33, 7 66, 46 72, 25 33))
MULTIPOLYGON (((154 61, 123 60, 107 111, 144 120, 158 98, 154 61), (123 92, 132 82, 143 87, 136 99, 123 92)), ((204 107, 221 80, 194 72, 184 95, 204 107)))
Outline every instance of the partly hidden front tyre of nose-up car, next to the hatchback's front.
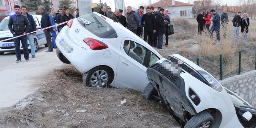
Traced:
POLYGON ((161 98, 158 96, 157 90, 150 82, 144 89, 143 98, 145 100, 154 100, 156 102, 159 102, 161 100, 161 98))

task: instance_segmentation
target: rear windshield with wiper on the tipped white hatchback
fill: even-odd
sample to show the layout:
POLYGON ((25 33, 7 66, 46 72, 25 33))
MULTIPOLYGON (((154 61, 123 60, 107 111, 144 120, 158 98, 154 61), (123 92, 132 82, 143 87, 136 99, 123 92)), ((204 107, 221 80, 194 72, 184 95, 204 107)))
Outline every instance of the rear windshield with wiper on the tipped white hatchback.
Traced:
POLYGON ((96 14, 86 14, 78 18, 78 21, 85 29, 100 38, 117 38, 114 28, 96 14))

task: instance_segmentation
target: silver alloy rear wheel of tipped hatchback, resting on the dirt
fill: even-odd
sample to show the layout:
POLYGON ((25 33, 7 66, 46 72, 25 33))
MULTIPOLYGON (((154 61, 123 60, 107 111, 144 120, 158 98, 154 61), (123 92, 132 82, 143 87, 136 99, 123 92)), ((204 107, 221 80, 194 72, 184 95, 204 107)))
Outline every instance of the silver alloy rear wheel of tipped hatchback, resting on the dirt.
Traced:
POLYGON ((112 82, 111 71, 107 67, 95 67, 83 74, 83 83, 86 86, 104 87, 112 82))

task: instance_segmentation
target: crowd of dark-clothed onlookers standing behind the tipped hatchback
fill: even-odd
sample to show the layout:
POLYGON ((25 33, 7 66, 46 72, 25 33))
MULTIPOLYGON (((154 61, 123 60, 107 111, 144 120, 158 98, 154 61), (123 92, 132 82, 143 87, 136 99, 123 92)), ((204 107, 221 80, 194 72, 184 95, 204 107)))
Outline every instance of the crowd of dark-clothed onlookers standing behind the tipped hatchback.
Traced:
POLYGON ((145 14, 143 6, 140 6, 136 11, 132 10, 131 6, 126 9, 126 17, 122 15, 122 9, 116 9, 112 12, 110 7, 106 10, 106 6, 101 6, 98 13, 120 22, 125 28, 139 37, 143 33, 144 41, 152 47, 157 47, 157 49, 162 49, 163 35, 165 35, 165 46, 168 47, 168 26, 170 25, 168 9, 164 10, 158 7, 157 11, 154 11, 154 7, 151 6, 146 8, 145 14))

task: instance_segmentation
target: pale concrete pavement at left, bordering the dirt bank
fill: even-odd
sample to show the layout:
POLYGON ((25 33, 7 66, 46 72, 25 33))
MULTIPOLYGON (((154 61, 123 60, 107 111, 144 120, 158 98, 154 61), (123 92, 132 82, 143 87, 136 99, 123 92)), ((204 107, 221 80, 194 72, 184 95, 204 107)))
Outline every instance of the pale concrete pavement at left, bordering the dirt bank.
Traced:
POLYGON ((35 58, 24 58, 0 71, 0 107, 10 107, 45 83, 45 76, 62 63, 54 52, 39 52, 35 58))

